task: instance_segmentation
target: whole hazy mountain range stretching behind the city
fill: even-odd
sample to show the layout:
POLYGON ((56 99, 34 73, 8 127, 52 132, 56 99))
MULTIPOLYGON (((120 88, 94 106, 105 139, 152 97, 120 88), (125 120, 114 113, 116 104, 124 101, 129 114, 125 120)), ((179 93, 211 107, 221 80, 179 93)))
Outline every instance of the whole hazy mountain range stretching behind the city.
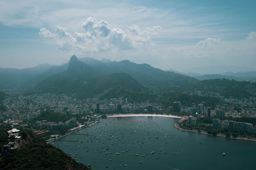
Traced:
MULTIPOLYGON (((152 99, 157 92, 185 92, 195 89, 220 92, 227 97, 234 90, 239 90, 241 93, 238 97, 243 97, 243 92, 247 92, 246 96, 249 96, 255 91, 255 83, 234 81, 238 75, 244 74, 194 74, 193 78, 129 60, 116 62, 88 57, 77 59, 76 55, 73 55, 68 63, 61 66, 44 64, 28 69, 2 68, 0 90, 21 88, 26 89, 28 93, 54 92, 76 94, 78 97, 127 97, 131 102, 152 99), (223 89, 231 91, 225 93, 223 89)), ((253 73, 251 75, 253 77, 253 73)))

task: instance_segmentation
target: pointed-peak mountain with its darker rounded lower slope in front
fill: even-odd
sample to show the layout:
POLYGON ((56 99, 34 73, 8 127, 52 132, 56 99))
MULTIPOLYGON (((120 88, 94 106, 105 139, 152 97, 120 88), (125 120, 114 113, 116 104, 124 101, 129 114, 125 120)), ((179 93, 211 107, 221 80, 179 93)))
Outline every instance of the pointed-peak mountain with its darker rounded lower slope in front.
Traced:
MULTIPOLYGON (((93 64, 97 65, 95 62, 93 64)), ((38 92, 77 94, 80 97, 129 97, 130 101, 141 101, 150 96, 149 90, 129 74, 102 74, 75 55, 71 57, 66 71, 45 78, 35 89, 38 92)))

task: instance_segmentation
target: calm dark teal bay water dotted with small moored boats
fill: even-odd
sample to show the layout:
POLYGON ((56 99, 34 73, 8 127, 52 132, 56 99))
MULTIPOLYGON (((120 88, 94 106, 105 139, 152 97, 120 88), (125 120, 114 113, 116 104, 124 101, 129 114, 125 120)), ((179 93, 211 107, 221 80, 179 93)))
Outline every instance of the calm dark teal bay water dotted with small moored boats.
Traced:
POLYGON ((107 118, 63 138, 77 142, 55 141, 54 146, 72 153, 78 162, 91 164, 93 170, 256 169, 256 142, 179 131, 173 127, 177 120, 107 118))

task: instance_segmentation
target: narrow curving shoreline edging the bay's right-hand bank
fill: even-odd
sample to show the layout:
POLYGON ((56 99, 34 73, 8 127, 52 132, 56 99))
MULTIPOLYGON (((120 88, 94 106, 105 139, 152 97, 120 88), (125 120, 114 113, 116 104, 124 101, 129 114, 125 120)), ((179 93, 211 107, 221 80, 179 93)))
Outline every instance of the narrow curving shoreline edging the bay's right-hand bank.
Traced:
MULTIPOLYGON (((183 118, 183 117, 182 117, 183 118)), ((183 118, 183 120, 184 120, 185 118, 183 118)), ((182 119, 180 120, 180 121, 183 121, 182 119)), ((179 121, 179 122, 180 122, 179 121)), ((176 129, 178 129, 178 130, 180 130, 180 131, 185 131, 185 132, 193 132, 193 133, 198 133, 198 134, 204 134, 204 135, 207 135, 207 136, 212 136, 212 135, 209 135, 209 134, 207 134, 207 132, 205 132, 205 131, 201 131, 201 132, 198 132, 198 131, 196 131, 195 129, 194 130, 188 130, 188 129, 183 129, 182 127, 180 127, 179 126, 179 124, 177 124, 177 123, 175 123, 174 125, 173 125, 173 127, 175 127, 176 129)), ((225 134, 217 134, 216 136, 218 136, 218 137, 223 137, 223 138, 227 138, 226 136, 225 136, 225 134)), ((233 137, 229 137, 229 138, 227 138, 227 139, 236 139, 236 140, 243 140, 243 141, 256 141, 256 139, 255 138, 242 138, 242 137, 237 137, 237 138, 233 138, 233 137)))

